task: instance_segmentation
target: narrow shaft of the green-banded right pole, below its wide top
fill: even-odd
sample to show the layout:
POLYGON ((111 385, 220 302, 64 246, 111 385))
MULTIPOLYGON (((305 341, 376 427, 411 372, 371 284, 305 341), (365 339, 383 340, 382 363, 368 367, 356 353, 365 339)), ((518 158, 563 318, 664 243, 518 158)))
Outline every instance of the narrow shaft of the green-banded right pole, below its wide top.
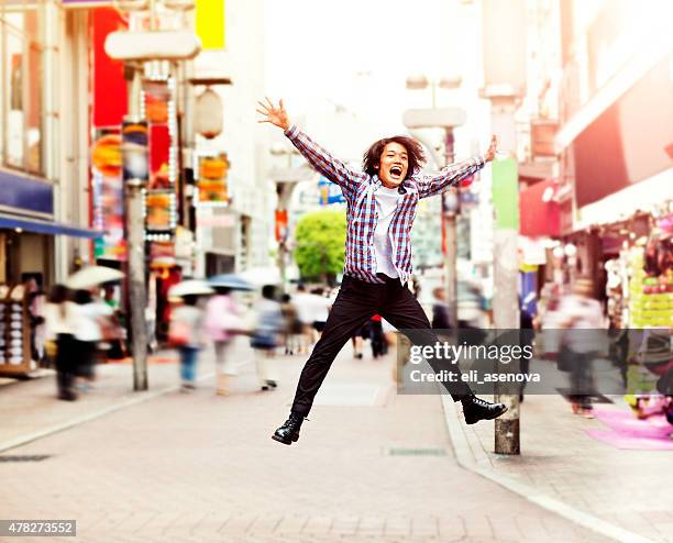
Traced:
MULTIPOLYGON (((512 97, 492 97, 493 133, 498 135, 500 148, 516 156, 515 100, 512 97)), ((493 312, 496 330, 519 328, 518 304, 518 235, 519 199, 518 174, 515 158, 493 163, 493 202, 496 210, 494 229, 494 297, 493 312)), ((511 334, 508 334, 511 337, 511 334)), ((498 370, 518 370, 518 367, 498 367, 498 370)), ((519 397, 503 395, 496 385, 496 402, 508 411, 495 420, 495 452, 520 454, 519 397)))

